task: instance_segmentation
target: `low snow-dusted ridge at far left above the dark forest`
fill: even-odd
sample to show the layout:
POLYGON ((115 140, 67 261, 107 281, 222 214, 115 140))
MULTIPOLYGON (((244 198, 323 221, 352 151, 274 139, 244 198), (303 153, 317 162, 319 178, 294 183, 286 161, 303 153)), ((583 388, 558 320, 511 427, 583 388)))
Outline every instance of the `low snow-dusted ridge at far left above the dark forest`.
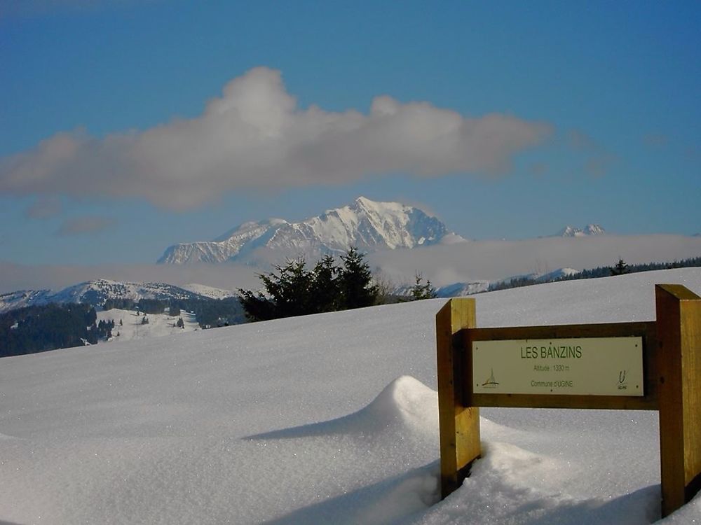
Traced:
POLYGON ((130 299, 136 302, 139 299, 198 298, 205 298, 205 295, 166 283, 121 283, 108 279, 95 279, 69 286, 57 293, 52 293, 50 290, 21 290, 2 294, 0 295, 0 313, 50 302, 77 302, 101 307, 108 299, 130 299))

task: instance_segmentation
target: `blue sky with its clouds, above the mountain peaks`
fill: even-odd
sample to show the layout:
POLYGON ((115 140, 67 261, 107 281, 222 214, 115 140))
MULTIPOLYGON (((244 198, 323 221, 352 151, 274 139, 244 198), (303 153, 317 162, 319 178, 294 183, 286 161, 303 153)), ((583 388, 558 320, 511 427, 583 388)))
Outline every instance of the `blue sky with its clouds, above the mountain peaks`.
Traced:
POLYGON ((463 237, 701 231, 701 3, 0 5, 0 261, 358 195, 463 237))

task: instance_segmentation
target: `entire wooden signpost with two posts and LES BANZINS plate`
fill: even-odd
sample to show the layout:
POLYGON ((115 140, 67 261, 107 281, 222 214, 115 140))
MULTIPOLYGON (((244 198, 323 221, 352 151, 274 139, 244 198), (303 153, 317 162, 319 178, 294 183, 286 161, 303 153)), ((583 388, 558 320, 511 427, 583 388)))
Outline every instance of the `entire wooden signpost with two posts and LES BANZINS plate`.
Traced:
POLYGON ((474 299, 436 316, 442 497, 481 454, 479 407, 660 412, 662 516, 701 489, 701 297, 655 286, 656 321, 477 328, 474 299))

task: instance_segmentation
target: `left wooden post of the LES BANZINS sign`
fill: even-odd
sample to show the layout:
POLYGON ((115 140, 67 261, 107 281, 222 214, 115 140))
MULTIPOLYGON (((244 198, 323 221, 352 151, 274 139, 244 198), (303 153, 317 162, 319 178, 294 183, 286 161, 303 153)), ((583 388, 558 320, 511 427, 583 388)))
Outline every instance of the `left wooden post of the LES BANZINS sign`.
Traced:
POLYGON ((465 359, 456 334, 475 328, 475 300, 451 299, 436 314, 441 496, 458 489, 479 447, 479 409, 463 406, 465 359))

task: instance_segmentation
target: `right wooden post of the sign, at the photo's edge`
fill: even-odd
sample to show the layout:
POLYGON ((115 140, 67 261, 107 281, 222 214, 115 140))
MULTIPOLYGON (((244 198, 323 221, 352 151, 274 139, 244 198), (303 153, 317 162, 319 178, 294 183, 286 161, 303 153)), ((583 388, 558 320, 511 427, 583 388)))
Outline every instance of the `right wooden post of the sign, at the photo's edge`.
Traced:
POLYGON ((701 297, 655 286, 660 370, 662 517, 701 489, 701 297))

